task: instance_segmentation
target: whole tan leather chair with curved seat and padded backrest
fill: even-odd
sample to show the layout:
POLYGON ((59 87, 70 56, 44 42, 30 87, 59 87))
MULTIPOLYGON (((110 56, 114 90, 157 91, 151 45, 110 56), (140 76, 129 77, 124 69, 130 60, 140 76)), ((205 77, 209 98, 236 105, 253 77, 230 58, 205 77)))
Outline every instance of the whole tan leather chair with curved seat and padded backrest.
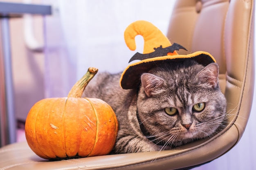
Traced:
POLYGON ((254 0, 177 0, 168 38, 182 44, 189 52, 208 51, 220 65, 220 85, 227 97, 229 117, 218 135, 173 150, 62 161, 41 159, 22 142, 0 149, 0 169, 189 169, 228 152, 242 137, 251 111, 254 0))

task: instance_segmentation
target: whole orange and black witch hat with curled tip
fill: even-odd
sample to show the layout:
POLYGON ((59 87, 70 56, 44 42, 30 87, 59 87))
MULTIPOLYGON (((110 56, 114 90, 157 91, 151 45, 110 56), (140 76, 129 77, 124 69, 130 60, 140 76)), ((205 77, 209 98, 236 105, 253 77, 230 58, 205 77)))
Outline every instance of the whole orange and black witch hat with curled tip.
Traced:
POLYGON ((180 44, 173 43, 150 22, 139 20, 130 24, 124 32, 124 40, 132 51, 136 49, 135 36, 144 38, 143 54, 136 53, 129 62, 132 63, 123 71, 120 78, 120 86, 123 89, 137 88, 142 73, 147 73, 153 66, 163 62, 179 62, 187 58, 193 58, 204 66, 216 62, 213 56, 205 51, 197 51, 187 55, 179 55, 175 50, 184 49, 180 44))

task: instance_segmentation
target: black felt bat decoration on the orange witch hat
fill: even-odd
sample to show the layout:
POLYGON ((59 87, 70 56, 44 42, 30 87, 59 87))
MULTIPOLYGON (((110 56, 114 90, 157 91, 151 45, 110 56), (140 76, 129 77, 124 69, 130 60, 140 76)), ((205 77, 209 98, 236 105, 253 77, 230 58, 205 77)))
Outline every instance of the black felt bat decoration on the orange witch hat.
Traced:
POLYGON ((148 54, 141 54, 141 53, 138 53, 138 52, 135 53, 135 55, 133 55, 131 57, 129 62, 132 62, 134 60, 145 60, 147 58, 165 56, 165 55, 167 55, 167 53, 173 53, 175 50, 180 50, 180 49, 186 50, 183 46, 181 46, 180 44, 177 44, 177 43, 173 43, 173 45, 168 46, 166 48, 163 48, 162 45, 161 45, 157 48, 154 48, 155 51, 152 52, 152 53, 148 53, 148 54))

